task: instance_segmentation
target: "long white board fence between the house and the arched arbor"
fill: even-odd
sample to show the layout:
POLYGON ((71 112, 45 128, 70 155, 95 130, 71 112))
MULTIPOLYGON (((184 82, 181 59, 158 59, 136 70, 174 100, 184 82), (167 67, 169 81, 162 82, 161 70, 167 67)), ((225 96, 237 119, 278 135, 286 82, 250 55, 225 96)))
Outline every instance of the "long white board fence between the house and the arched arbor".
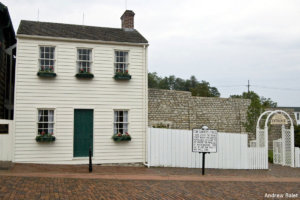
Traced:
MULTIPOLYGON (((192 131, 149 128, 149 166, 201 168, 202 154, 192 152, 192 131)), ((248 135, 218 133, 217 153, 206 154, 205 167, 267 169, 265 148, 249 148, 248 135)))

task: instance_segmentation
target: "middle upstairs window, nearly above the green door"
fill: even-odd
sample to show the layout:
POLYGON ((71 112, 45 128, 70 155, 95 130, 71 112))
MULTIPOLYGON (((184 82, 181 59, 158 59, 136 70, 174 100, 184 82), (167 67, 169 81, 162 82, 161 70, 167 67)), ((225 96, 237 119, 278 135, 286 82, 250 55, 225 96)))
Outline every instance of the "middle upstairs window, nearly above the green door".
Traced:
POLYGON ((92 50, 77 49, 77 72, 91 73, 92 67, 92 50))

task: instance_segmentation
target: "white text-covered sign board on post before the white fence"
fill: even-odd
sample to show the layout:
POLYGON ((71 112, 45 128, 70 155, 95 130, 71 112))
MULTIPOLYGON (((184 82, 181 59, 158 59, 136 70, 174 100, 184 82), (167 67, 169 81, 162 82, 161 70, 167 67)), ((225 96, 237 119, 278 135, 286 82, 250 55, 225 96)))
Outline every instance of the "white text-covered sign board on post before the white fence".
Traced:
POLYGON ((217 137, 216 130, 193 129, 192 152, 216 153, 217 137))

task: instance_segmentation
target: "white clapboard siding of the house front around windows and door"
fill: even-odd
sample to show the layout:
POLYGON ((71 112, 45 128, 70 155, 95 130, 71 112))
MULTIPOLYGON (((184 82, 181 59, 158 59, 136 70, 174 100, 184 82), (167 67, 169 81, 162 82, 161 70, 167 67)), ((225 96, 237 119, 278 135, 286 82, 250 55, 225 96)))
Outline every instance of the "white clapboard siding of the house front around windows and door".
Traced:
POLYGON ((144 135, 147 113, 145 49, 139 46, 72 43, 18 38, 15 95, 15 162, 88 163, 73 158, 74 109, 94 109, 94 157, 96 163, 145 161, 144 135), (38 77, 39 45, 55 46, 55 78, 38 77), (77 48, 91 48, 93 79, 77 79, 77 48), (116 81, 114 50, 129 51, 129 81, 116 81), (37 109, 55 109, 56 141, 41 144, 37 134, 37 109), (129 110, 132 141, 115 143, 114 109, 129 110))

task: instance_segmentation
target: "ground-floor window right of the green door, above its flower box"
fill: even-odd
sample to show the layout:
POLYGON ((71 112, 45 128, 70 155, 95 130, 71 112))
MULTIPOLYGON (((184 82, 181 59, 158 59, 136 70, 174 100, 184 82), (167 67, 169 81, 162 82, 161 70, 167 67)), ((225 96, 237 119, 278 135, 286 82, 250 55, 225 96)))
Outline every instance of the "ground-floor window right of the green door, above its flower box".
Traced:
POLYGON ((128 111, 114 111, 114 134, 128 133, 128 111))

